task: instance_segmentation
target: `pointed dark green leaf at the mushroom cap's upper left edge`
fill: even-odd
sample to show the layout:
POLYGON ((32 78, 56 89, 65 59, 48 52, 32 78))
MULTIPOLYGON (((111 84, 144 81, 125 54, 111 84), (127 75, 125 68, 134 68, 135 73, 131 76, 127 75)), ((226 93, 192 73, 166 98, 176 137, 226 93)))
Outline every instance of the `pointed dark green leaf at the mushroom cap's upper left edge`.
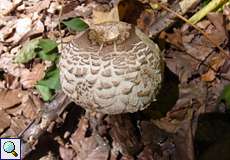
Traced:
POLYGON ((80 32, 87 29, 89 26, 80 18, 73 18, 69 21, 63 21, 63 24, 65 24, 69 29, 72 29, 74 31, 80 32))

